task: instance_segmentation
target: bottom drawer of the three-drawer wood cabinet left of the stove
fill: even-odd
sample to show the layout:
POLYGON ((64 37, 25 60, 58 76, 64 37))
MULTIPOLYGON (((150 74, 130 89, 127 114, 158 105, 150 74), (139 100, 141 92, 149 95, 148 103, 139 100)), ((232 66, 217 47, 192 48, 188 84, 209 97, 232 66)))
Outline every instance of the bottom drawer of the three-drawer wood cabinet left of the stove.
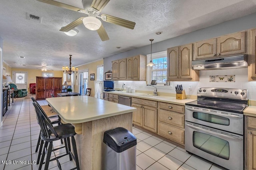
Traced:
POLYGON ((158 135, 166 137, 167 139, 184 145, 184 134, 184 130, 158 123, 158 135))

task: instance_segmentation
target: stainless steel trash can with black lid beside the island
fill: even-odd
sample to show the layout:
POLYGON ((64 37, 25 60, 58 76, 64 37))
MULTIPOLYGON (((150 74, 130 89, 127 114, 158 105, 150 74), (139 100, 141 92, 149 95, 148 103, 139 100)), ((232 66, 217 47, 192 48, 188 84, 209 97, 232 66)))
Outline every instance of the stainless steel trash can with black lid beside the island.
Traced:
POLYGON ((106 146, 105 170, 136 170, 136 137, 127 129, 117 127, 104 132, 106 146))

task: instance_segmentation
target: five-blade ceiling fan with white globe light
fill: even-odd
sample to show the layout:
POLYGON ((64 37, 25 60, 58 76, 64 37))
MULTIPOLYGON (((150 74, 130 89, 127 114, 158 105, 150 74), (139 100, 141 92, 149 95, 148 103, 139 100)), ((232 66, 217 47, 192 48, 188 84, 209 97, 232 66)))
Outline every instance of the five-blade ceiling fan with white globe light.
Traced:
POLYGON ((134 29, 134 26, 136 24, 135 22, 124 20, 121 18, 107 15, 107 14, 102 14, 101 16, 99 16, 102 9, 108 4, 110 0, 93 0, 91 5, 88 5, 86 0, 82 0, 84 10, 80 8, 76 8, 74 6, 63 4, 61 2, 57 2, 54 0, 38 0, 38 1, 55 5, 55 6, 60 6, 68 10, 73 10, 73 11, 81 12, 88 15, 87 17, 78 18, 77 20, 66 25, 65 27, 62 27, 60 31, 63 31, 63 32, 68 32, 71 29, 77 27, 78 25, 84 23, 84 26, 86 28, 90 30, 97 30, 97 33, 100 36, 100 39, 102 41, 106 41, 106 40, 109 40, 108 34, 106 33, 105 28, 103 27, 101 21, 98 18, 101 18, 103 21, 114 23, 116 25, 120 25, 122 27, 126 27, 129 29, 134 29))

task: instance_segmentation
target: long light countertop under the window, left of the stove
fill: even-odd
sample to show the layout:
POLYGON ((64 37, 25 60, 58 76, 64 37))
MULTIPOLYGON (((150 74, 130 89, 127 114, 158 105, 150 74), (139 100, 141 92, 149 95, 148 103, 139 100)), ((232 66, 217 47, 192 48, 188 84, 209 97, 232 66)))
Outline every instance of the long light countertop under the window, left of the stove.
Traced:
POLYGON ((118 95, 130 96, 130 97, 134 97, 134 98, 154 100, 154 101, 158 101, 158 102, 166 102, 166 103, 171 103, 171 104, 179 104, 179 105, 183 105, 183 106, 185 106, 185 103, 195 101, 195 99, 179 100, 179 99, 176 99, 176 97, 154 96, 152 94, 145 94, 145 93, 128 93, 125 91, 111 91, 111 92, 104 92, 104 93, 118 94, 118 95))

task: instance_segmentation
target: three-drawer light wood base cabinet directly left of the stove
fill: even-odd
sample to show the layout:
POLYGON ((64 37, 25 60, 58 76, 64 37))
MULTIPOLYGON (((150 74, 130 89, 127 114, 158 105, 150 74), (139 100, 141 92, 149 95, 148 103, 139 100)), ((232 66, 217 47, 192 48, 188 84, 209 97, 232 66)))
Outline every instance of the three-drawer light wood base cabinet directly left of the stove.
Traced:
POLYGON ((158 102, 158 135, 184 145, 184 106, 158 102))

